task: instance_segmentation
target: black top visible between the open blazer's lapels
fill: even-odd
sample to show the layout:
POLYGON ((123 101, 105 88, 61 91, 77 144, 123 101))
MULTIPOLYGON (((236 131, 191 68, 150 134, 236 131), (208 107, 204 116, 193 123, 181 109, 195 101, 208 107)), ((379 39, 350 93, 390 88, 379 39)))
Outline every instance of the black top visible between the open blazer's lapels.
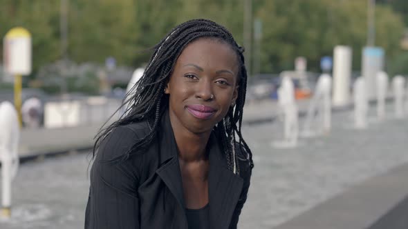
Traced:
POLYGON ((187 217, 188 229, 209 229, 209 215, 210 208, 205 205, 200 209, 185 209, 185 216, 187 217))

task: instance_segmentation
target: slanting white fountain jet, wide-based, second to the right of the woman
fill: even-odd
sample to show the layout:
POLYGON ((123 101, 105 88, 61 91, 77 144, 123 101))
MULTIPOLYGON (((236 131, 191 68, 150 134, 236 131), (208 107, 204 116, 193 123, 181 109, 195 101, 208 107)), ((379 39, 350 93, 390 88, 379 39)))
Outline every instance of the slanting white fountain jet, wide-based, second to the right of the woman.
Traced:
POLYGON ((331 130, 331 88, 332 79, 329 74, 322 74, 317 80, 315 93, 310 100, 306 121, 304 123, 304 137, 311 137, 315 132, 330 132, 331 130), (315 113, 317 112, 317 115, 315 113), (312 130, 312 123, 319 123, 312 130))

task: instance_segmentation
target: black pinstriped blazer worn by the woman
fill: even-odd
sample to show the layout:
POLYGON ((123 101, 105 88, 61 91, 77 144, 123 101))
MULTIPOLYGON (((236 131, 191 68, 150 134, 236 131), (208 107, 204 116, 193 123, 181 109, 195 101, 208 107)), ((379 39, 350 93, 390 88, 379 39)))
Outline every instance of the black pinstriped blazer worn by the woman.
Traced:
MULTIPOLYGON (((124 162, 106 162, 127 152, 150 131, 147 122, 115 128, 98 150, 91 168, 86 229, 187 229, 178 150, 168 112, 149 148, 124 162)), ((237 149, 240 175, 228 170, 214 132, 210 136, 208 195, 210 228, 237 228, 252 168, 237 149)))

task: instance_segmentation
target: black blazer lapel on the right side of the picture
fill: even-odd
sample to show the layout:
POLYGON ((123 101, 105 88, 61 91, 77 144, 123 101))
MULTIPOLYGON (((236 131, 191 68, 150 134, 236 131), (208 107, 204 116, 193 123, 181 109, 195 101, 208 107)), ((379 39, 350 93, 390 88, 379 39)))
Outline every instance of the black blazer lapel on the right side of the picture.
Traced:
POLYGON ((243 179, 228 169, 214 133, 210 137, 210 172, 208 195, 210 201, 210 228, 228 228, 237 206, 243 179))

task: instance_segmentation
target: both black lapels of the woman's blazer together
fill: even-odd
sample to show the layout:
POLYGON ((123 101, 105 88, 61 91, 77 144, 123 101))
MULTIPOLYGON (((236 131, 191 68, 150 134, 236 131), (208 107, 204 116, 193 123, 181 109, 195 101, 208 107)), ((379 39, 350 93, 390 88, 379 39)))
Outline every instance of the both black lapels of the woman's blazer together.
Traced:
MULTIPOLYGON (((171 128, 169 112, 164 112, 160 121, 160 167, 156 173, 185 209, 183 183, 178 163, 178 149, 171 128)), ((219 147, 214 132, 210 135, 208 174, 208 199, 210 201, 210 227, 228 228, 235 206, 241 194, 243 179, 228 169, 227 160, 219 147)))

